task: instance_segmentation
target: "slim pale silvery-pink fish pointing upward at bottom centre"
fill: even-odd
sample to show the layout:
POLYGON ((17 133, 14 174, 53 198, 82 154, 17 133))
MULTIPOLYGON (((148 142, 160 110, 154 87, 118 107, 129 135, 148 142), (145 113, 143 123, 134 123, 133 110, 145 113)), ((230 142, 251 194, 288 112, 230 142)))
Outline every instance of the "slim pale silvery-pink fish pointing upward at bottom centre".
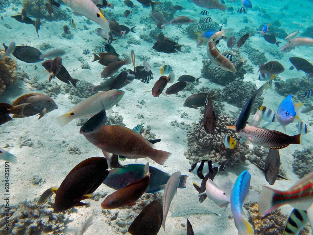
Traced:
POLYGON ((181 178, 180 171, 177 171, 171 175, 171 177, 168 179, 165 185, 163 194, 163 221, 162 221, 162 227, 164 230, 167 213, 171 206, 171 202, 177 192, 177 187, 179 185, 180 178, 181 178))

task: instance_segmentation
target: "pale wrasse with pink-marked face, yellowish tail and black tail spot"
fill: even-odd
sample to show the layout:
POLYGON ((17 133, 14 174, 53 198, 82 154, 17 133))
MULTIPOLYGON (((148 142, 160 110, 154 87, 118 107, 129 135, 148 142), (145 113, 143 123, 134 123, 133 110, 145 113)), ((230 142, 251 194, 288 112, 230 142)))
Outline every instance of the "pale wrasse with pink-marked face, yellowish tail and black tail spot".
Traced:
POLYGON ((120 102, 124 94, 125 91, 117 89, 98 92, 74 105, 69 112, 58 117, 56 121, 59 126, 64 127, 73 119, 91 117, 103 109, 109 110, 120 102))

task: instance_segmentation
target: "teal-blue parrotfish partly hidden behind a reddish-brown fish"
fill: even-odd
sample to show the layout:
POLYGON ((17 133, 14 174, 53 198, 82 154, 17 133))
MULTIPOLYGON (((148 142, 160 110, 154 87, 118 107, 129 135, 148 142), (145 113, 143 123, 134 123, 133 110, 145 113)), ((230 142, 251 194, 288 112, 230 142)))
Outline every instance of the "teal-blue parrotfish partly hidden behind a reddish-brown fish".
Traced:
MULTIPOLYGON (((123 168, 114 168, 110 170, 109 175, 103 183, 110 188, 119 190, 128 184, 135 182, 143 177, 145 171, 145 165, 142 164, 128 164, 123 168)), ((155 193, 164 189, 167 180, 171 177, 166 172, 150 166, 149 171, 151 174, 150 183, 146 190, 146 193, 155 193)), ((178 188, 186 188, 187 175, 182 175, 178 188)))

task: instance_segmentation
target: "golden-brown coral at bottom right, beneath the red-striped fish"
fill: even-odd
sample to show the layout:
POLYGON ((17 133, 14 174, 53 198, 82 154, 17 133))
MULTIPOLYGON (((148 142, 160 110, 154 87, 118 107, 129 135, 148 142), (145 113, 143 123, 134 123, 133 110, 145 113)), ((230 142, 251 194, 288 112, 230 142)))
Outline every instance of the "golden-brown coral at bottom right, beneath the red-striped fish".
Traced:
POLYGON ((276 235, 282 234, 285 228, 287 216, 276 209, 265 216, 259 215, 258 203, 250 202, 244 205, 248 210, 248 219, 254 227, 255 235, 276 235))

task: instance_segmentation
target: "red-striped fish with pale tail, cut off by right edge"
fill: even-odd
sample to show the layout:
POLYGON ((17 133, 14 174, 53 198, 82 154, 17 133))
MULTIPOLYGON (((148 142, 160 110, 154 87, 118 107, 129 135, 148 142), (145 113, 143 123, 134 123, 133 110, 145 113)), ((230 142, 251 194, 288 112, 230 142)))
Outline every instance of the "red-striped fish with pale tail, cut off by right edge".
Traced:
POLYGON ((313 200, 313 172, 305 175, 287 191, 263 186, 260 194, 259 214, 266 215, 276 208, 289 204, 298 210, 307 210, 313 200))

